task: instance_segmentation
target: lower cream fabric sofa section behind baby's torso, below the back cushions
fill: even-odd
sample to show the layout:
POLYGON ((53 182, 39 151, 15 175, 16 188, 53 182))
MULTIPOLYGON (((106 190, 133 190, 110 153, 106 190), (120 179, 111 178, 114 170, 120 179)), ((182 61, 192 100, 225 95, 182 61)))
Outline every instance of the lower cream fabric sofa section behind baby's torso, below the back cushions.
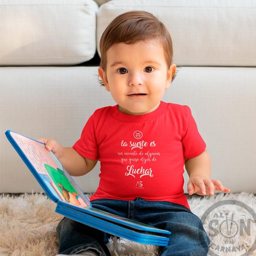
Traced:
MULTIPOLYGON (((256 193, 256 68, 182 67, 163 101, 188 105, 211 157, 211 178, 231 192, 256 193)), ((71 147, 95 109, 116 105, 97 82, 97 67, 2 67, 0 193, 42 191, 8 142, 7 129, 71 147)), ((95 192, 100 162, 74 177, 95 192)), ((187 192, 188 175, 184 173, 187 192)))

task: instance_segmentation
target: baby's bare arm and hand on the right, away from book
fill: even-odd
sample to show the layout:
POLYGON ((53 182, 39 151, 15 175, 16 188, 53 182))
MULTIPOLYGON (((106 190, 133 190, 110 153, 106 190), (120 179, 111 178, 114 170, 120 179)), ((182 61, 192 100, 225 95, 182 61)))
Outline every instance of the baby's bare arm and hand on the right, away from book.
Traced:
POLYGON ((213 196, 216 190, 230 192, 230 189, 223 187, 221 181, 210 180, 211 159, 206 149, 197 157, 185 159, 185 168, 189 176, 187 185, 189 195, 196 193, 201 196, 207 194, 213 196))

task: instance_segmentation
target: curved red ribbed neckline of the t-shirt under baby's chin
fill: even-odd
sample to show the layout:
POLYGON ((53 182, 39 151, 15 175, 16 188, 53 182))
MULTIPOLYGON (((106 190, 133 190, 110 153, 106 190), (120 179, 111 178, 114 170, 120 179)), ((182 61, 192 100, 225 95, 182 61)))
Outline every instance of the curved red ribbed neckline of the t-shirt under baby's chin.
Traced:
POLYGON ((123 122, 138 123, 138 122, 152 120, 152 119, 155 119, 155 118, 161 116, 166 111, 167 106, 168 106, 168 103, 160 101, 160 105, 154 111, 147 113, 147 114, 134 116, 134 115, 124 114, 124 113, 120 112, 118 110, 118 104, 117 104, 111 108, 111 115, 115 119, 123 121, 123 122))

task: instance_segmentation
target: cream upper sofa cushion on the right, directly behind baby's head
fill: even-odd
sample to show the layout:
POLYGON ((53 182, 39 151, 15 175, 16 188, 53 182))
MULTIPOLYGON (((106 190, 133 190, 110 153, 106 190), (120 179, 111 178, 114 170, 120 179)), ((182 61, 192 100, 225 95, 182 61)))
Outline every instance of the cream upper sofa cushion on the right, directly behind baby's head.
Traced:
POLYGON ((132 10, 151 12, 166 25, 177 65, 256 66, 256 1, 109 1, 97 13, 99 55, 108 24, 132 10))

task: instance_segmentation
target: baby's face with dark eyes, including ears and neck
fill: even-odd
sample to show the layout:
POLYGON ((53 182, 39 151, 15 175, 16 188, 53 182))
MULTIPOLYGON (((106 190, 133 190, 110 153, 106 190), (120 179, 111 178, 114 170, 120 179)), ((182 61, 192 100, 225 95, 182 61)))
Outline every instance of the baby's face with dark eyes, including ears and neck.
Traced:
POLYGON ((158 108, 175 70, 175 64, 167 69, 163 48, 155 40, 113 45, 107 51, 106 72, 98 68, 118 110, 131 115, 158 108))

